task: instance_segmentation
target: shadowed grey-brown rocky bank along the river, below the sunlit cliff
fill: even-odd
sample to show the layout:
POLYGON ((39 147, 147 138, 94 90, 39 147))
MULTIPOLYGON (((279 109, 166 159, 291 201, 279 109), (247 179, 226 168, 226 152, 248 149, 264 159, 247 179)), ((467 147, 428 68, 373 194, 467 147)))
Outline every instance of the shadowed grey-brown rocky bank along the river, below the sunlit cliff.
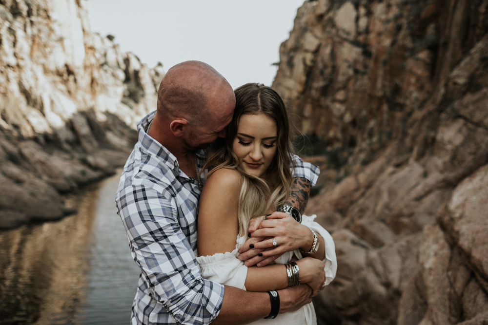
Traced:
POLYGON ((102 123, 93 111, 82 112, 73 121, 69 149, 56 139, 39 143, 0 133, 0 229, 75 212, 64 206, 62 194, 113 175, 137 141, 136 131, 115 115, 102 123))

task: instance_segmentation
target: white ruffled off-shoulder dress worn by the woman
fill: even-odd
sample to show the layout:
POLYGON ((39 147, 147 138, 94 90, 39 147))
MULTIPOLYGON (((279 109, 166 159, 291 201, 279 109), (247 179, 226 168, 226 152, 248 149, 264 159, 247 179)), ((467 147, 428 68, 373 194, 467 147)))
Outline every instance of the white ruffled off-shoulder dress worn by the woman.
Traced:
MULTIPOLYGON (((316 215, 303 216, 302 225, 313 229, 316 233, 319 233, 324 239, 325 243, 325 285, 328 285, 335 277, 337 271, 337 259, 335 255, 335 245, 332 237, 321 225, 314 221, 316 215)), ((238 237, 236 240, 236 249, 224 254, 217 253, 214 255, 199 256, 197 262, 200 266, 200 271, 203 278, 226 285, 237 287, 245 290, 245 278, 247 276, 247 267, 244 262, 239 260, 238 249, 244 244, 247 237, 238 237)), ((302 258, 302 254, 297 249, 292 252, 286 252, 281 257, 276 259, 277 264, 286 264, 291 261, 293 254, 299 259, 302 258)), ((284 314, 279 314, 275 319, 262 319, 256 321, 255 325, 316 325, 317 317, 312 303, 303 306, 296 311, 290 311, 284 314)))

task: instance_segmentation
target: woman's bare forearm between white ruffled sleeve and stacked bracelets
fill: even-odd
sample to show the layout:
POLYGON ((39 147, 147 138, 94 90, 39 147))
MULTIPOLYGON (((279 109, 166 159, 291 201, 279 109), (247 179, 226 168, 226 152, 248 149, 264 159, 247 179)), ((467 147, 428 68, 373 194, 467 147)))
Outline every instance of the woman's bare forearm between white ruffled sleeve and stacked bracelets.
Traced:
POLYGON ((288 275, 283 264, 267 265, 263 268, 247 268, 245 278, 245 289, 247 291, 270 291, 288 287, 288 275))

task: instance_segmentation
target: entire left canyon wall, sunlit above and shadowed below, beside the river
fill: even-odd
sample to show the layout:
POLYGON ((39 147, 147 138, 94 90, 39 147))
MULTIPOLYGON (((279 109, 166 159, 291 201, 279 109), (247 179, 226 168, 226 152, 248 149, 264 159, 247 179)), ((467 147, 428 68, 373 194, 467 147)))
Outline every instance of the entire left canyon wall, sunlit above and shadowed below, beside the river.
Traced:
POLYGON ((156 108, 163 66, 92 33, 86 7, 0 0, 0 228, 69 213, 60 193, 123 165, 156 108))

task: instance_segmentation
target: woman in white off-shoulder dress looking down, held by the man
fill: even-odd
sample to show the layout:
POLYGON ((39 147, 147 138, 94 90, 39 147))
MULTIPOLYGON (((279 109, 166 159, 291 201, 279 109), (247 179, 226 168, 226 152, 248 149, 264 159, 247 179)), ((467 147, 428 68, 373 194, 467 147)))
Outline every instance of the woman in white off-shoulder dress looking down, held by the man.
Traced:
MULTIPOLYGON (((285 253, 274 265, 247 268, 238 259, 238 250, 248 238, 251 218, 276 211, 288 198, 293 156, 288 116, 280 96, 271 88, 255 83, 239 87, 235 95, 236 108, 227 138, 209 150, 203 166, 209 172, 198 219, 197 261, 202 275, 248 291, 277 290, 299 282, 317 290, 322 286, 315 276, 317 270, 325 264, 328 284, 335 275, 336 261, 330 235, 313 222, 313 217, 304 216, 303 225, 297 223, 296 229, 308 235, 307 238, 310 229, 306 226, 317 230, 316 252, 309 251, 310 241, 301 247, 302 252, 285 253), (303 253, 309 256, 302 258, 303 253), (297 258, 300 260, 296 261, 298 268, 295 268, 293 261, 297 258), (295 276, 298 269, 300 281, 295 276)), ((270 246, 272 242, 280 242, 279 237, 266 240, 270 246)), ((309 304, 256 324, 260 322, 316 324, 316 319, 309 304)))

